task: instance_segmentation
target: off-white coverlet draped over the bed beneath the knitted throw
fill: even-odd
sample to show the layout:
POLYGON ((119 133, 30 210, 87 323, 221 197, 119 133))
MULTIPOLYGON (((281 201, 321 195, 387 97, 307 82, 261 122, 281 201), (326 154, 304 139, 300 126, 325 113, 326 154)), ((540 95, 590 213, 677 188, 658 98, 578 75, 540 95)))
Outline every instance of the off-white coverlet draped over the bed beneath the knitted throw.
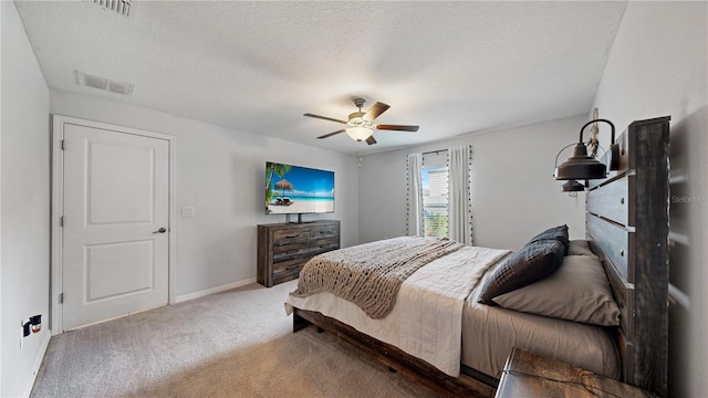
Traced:
POLYGON ((285 310, 288 314, 292 307, 320 312, 457 377, 465 300, 485 272, 509 253, 465 247, 428 263, 403 283, 396 305, 383 320, 372 320, 355 304, 331 293, 289 296, 285 310))

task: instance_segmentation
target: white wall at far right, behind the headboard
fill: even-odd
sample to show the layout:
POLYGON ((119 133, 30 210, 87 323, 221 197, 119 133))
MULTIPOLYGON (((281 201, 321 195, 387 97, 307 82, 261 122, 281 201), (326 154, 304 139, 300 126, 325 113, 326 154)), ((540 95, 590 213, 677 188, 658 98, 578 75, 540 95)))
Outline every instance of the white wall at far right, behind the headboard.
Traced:
POLYGON ((707 19, 706 2, 629 2, 594 104, 617 126, 671 116, 671 397, 708 391, 707 19))

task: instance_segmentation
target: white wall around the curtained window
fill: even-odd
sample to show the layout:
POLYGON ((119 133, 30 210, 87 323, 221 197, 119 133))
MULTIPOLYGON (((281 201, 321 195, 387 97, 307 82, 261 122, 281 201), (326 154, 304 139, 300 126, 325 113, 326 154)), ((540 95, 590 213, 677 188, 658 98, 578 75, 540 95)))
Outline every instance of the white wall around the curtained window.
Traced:
MULTIPOLYGON (((518 250, 549 227, 566 223, 584 238, 585 197, 561 193, 554 159, 577 140, 585 115, 365 156, 362 163, 363 242, 406 234, 406 156, 472 146, 472 228, 476 245, 518 250)), ((564 153, 568 158, 571 153, 564 153)), ((561 158, 560 161, 565 160, 561 158)))

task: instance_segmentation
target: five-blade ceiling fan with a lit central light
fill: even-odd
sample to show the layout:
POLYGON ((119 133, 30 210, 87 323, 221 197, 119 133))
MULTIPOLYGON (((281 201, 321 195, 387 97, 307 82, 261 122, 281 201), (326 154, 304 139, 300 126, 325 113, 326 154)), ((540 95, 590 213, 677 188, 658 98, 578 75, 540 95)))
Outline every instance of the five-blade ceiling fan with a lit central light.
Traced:
POLYGON ((398 132, 417 132, 418 126, 402 126, 402 125, 384 125, 384 124, 374 124, 374 119, 391 106, 384 103, 375 103, 366 113, 362 112, 362 107, 366 101, 364 98, 355 98, 354 105, 358 108, 358 112, 354 112, 350 115, 348 121, 335 119, 332 117, 313 115, 313 114, 304 114, 303 116, 321 118, 330 122, 336 122, 341 124, 345 124, 348 127, 339 129, 336 132, 332 132, 330 134, 325 134, 323 136, 317 137, 317 139, 327 138, 333 135, 337 135, 340 133, 346 132, 354 140, 363 142, 366 144, 373 145, 376 144, 376 139, 374 139, 373 133, 374 130, 398 130, 398 132))

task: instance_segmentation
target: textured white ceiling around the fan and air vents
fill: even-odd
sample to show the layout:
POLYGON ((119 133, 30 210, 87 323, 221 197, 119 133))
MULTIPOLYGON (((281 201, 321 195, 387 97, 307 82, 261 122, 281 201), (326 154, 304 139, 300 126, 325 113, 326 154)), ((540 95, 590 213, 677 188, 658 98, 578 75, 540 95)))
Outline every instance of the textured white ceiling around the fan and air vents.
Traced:
POLYGON ((590 111, 625 2, 17 1, 52 88, 364 154, 590 111), (135 84, 123 96, 76 71, 135 84), (355 143, 354 97, 377 123, 355 143))

